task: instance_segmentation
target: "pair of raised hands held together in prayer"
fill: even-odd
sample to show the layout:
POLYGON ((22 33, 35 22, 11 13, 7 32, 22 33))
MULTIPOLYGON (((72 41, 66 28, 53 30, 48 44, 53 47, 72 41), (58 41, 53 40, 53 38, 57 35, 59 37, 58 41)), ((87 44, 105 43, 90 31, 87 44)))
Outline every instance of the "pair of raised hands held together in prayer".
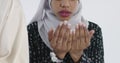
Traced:
POLYGON ((62 24, 55 31, 51 29, 48 36, 57 57, 63 59, 66 53, 69 52, 76 63, 80 59, 83 50, 90 45, 93 34, 94 30, 88 31, 84 24, 78 24, 75 31, 72 32, 67 24, 62 24))

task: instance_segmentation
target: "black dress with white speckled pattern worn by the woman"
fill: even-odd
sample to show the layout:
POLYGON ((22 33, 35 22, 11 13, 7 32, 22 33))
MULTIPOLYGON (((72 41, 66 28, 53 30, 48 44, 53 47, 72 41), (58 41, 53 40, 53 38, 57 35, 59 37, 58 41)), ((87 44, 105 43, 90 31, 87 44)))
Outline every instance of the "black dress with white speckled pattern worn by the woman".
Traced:
MULTIPOLYGON (((28 25, 30 63, 53 63, 50 57, 51 50, 41 39, 38 32, 38 23, 28 25)), ((89 22, 88 30, 95 30, 91 39, 91 45, 84 50, 79 63, 104 63, 104 49, 101 28, 89 22)), ((62 63, 74 63, 69 53, 66 54, 62 63)))

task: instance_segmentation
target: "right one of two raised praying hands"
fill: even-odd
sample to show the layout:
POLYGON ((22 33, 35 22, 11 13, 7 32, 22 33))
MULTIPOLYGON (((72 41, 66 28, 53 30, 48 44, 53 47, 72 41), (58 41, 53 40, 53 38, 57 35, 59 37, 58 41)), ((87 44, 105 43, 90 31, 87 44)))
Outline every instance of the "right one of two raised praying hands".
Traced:
POLYGON ((88 31, 85 25, 77 25, 75 32, 72 33, 72 46, 70 50, 70 55, 72 59, 77 62, 83 50, 90 45, 90 39, 94 34, 94 30, 88 31))

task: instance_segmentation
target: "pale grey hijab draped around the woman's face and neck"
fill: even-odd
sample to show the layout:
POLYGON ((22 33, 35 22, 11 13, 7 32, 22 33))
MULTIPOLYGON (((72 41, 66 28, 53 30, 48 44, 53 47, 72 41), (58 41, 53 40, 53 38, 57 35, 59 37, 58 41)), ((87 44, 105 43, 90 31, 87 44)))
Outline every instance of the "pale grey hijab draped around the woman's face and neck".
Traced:
MULTIPOLYGON (((40 1, 39 9, 35 14, 35 16, 33 17, 31 23, 35 21, 38 22, 38 31, 42 40, 51 50, 53 50, 49 44, 48 31, 51 28, 55 30, 61 21, 53 13, 50 3, 51 3, 51 0, 40 1)), ((81 8, 82 8, 82 5, 79 1, 76 11, 74 12, 73 16, 68 20, 68 23, 71 24, 72 30, 80 22, 84 23, 86 27, 88 27, 88 21, 86 21, 81 16, 81 8)))

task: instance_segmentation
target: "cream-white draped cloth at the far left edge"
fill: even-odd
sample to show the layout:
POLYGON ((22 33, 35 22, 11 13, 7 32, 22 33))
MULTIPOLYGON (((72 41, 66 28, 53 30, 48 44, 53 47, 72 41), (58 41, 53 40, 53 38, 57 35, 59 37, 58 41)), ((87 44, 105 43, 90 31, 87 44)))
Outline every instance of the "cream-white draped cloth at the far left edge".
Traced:
POLYGON ((0 0, 0 63, 29 63, 25 21, 19 0, 0 0))

